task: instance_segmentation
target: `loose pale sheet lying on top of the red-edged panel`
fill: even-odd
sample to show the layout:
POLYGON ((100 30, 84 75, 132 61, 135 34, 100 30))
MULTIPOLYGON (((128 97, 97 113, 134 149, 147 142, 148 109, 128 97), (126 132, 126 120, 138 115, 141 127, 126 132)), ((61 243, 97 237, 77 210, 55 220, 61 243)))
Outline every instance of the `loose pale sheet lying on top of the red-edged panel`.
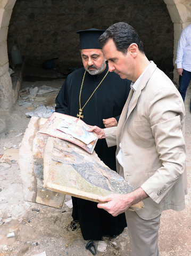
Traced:
POLYGON ((93 132, 88 132, 86 129, 88 129, 87 125, 84 125, 83 127, 77 125, 73 121, 64 121, 57 126, 57 129, 59 131, 62 131, 64 133, 72 135, 73 138, 76 138, 78 140, 81 140, 86 145, 88 145, 90 142, 96 140, 96 137, 93 132))

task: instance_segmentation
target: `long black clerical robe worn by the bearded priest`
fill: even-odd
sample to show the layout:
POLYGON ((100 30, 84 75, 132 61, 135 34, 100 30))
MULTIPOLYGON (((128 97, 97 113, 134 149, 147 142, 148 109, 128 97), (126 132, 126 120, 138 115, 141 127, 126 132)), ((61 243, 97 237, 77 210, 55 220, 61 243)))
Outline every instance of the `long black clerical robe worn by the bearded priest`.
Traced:
MULTIPOLYGON (((81 90, 81 108, 94 92, 98 84, 107 73, 108 66, 99 75, 90 75, 86 71, 81 90)), ((79 95, 84 68, 73 71, 65 80, 59 94, 56 97, 56 112, 77 117, 79 114, 79 95)), ((130 91, 130 81, 121 79, 115 73, 108 73, 99 85, 93 96, 82 110, 82 119, 86 124, 97 125, 105 128, 103 119, 115 117, 119 121, 124 103, 130 91)), ((116 171, 115 151, 116 147, 107 147, 106 140, 98 140, 95 151, 98 157, 116 171)), ((82 236, 85 240, 101 240, 103 235, 118 235, 124 227, 127 227, 125 215, 113 217, 103 209, 97 208, 97 203, 72 197, 74 220, 79 220, 82 236)))

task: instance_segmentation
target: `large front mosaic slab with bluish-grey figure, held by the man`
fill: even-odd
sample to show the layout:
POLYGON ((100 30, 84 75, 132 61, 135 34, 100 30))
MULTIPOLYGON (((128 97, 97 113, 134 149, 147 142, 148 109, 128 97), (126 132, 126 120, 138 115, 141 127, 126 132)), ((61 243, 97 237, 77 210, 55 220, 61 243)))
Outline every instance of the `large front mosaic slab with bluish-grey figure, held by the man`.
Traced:
MULTIPOLYGON (((107 167, 95 151, 89 155, 69 141, 48 137, 44 154, 44 187, 58 193, 99 202, 98 196, 128 194, 128 181, 107 167)), ((143 202, 129 210, 139 210, 143 202)))

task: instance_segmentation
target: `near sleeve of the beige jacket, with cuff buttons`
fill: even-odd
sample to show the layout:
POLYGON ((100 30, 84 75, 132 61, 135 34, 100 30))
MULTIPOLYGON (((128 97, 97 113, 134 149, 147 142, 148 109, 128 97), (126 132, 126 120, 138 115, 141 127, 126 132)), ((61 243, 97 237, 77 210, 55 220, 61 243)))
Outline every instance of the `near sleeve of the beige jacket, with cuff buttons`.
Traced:
POLYGON ((153 95, 147 113, 162 166, 141 187, 159 203, 185 170, 184 102, 172 89, 161 89, 153 95))

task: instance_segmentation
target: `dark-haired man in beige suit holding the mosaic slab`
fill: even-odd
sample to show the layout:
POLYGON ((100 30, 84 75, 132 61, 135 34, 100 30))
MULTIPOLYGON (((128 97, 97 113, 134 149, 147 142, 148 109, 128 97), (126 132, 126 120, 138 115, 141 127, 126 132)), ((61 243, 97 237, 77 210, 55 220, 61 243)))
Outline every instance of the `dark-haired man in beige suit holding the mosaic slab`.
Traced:
POLYGON ((132 256, 158 256, 161 212, 185 208, 184 102, 170 79, 148 61, 143 43, 127 23, 109 27, 99 43, 109 70, 132 83, 118 126, 90 131, 106 138, 109 147, 117 145, 118 173, 135 191, 99 197, 107 203, 98 207, 113 216, 126 212, 132 256), (144 209, 127 211, 141 200, 144 209))

